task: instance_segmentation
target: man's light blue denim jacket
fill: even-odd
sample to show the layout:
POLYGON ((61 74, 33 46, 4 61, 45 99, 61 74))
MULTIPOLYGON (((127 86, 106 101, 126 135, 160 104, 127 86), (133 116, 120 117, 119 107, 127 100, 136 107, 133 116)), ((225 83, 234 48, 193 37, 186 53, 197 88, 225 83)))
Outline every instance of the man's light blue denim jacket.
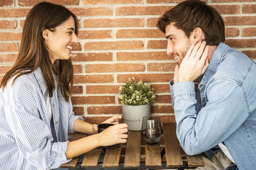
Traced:
POLYGON ((239 169, 256 167, 256 64, 220 43, 195 92, 191 81, 172 85, 177 137, 188 155, 223 142, 239 169))

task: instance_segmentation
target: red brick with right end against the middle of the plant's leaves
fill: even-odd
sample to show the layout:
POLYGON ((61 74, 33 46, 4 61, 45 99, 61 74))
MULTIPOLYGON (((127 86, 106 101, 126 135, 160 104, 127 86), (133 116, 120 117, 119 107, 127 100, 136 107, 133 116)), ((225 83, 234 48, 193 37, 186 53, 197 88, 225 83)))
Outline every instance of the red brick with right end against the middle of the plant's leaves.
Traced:
POLYGON ((118 85, 86 85, 86 94, 116 94, 118 85))

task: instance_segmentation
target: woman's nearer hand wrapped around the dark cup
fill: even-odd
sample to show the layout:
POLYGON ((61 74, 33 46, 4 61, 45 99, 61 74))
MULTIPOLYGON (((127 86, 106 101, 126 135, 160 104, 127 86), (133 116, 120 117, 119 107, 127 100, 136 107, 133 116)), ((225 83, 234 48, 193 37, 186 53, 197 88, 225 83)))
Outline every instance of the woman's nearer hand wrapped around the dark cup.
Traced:
POLYGON ((115 145, 116 143, 126 143, 127 124, 116 124, 100 132, 100 144, 102 146, 115 145))

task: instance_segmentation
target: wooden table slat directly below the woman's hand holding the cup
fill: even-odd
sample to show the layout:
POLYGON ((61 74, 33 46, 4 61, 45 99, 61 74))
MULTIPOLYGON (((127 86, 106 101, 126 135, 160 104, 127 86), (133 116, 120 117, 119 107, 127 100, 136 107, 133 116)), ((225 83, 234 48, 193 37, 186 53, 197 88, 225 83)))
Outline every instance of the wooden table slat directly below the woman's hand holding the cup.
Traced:
POLYGON ((122 144, 116 146, 115 148, 107 148, 102 167, 118 167, 121 149, 122 144))

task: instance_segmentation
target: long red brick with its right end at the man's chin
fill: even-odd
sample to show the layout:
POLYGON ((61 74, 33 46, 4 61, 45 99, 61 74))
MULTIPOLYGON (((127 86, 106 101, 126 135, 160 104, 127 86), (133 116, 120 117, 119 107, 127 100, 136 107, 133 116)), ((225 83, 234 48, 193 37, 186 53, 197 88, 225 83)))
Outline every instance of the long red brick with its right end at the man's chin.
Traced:
POLYGON ((116 60, 170 60, 166 52, 117 52, 116 60))

